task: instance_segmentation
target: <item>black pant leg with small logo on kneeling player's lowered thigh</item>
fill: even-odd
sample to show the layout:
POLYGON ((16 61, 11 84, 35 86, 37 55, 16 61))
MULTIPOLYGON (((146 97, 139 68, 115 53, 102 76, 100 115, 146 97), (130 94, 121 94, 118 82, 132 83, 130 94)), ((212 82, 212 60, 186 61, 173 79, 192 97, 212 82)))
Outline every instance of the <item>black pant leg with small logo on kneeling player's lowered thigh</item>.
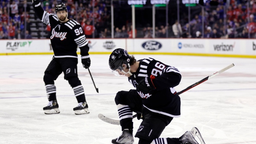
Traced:
POLYGON ((152 142, 154 139, 160 137, 165 127, 166 124, 161 119, 152 117, 147 118, 146 115, 145 119, 140 124, 135 137, 144 139, 147 142, 152 142))

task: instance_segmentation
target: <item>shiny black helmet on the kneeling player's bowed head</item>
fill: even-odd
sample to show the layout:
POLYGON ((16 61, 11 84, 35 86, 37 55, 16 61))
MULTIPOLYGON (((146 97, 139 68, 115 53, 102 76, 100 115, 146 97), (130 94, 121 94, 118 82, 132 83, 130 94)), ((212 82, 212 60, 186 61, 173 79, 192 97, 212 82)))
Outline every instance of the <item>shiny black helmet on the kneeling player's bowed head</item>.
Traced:
POLYGON ((109 67, 112 71, 115 71, 119 68, 119 70, 123 70, 122 64, 128 65, 130 62, 131 56, 128 54, 126 50, 116 49, 109 56, 109 67))

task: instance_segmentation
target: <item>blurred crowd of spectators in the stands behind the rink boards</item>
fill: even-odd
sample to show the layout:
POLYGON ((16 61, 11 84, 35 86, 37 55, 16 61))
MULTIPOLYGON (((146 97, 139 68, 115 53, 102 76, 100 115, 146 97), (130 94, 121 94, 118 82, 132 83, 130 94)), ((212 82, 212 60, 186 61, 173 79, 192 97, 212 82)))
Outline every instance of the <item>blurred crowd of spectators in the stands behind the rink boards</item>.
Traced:
MULTIPOLYGON (((60 2, 66 4, 68 18, 83 26, 86 38, 111 38, 110 0, 43 0, 41 5, 45 11, 55 13, 55 5, 60 2)), ((154 37, 256 38, 256 0, 249 0, 249 8, 246 2, 230 0, 227 7, 224 0, 206 0, 204 14, 201 11, 192 15, 190 22, 180 20, 180 23, 156 26, 154 37)), ((32 38, 30 5, 26 6, 25 12, 26 4, 26 0, 0 0, 0 39, 32 38)), ((114 38, 132 38, 132 27, 131 24, 114 27, 114 38)), ((45 31, 49 38, 50 26, 45 25, 45 31)), ((135 37, 153 38, 152 27, 135 28, 135 37)))

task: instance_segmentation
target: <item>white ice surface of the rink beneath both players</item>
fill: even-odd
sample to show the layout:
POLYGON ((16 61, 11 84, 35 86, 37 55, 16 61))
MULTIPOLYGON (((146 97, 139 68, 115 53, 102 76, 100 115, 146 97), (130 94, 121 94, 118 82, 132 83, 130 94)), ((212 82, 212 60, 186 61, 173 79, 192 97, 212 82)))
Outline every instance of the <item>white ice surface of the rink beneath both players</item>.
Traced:
MULTIPOLYGON (((111 73, 108 54, 90 57, 99 93, 78 59, 78 77, 90 113, 74 114, 78 104, 62 73, 55 81, 60 113, 46 115, 43 75, 52 55, 0 56, 0 144, 111 144, 111 139, 119 137, 120 125, 105 123, 98 114, 118 120, 116 92, 133 86, 125 76, 111 73)), ((181 117, 174 118, 161 137, 180 137, 197 127, 206 144, 256 144, 256 59, 135 54, 136 59, 147 57, 179 69, 182 80, 175 87, 177 92, 235 64, 180 94, 181 117)), ((135 135, 142 120, 133 122, 135 135)))

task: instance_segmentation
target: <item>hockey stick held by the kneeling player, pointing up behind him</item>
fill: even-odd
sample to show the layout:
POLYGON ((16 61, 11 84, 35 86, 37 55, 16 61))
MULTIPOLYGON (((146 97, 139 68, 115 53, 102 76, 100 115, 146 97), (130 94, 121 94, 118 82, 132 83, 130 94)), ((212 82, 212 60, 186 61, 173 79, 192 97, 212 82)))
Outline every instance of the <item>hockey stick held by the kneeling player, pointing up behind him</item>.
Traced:
MULTIPOLYGON (((193 87, 201 84, 201 83, 204 83, 206 80, 209 80, 210 78, 213 78, 215 76, 217 76, 218 74, 232 68, 233 66, 235 66, 234 64, 230 64, 229 66, 221 69, 220 71, 217 71, 213 74, 211 74, 210 76, 207 76, 206 78, 203 78, 202 80, 199 80, 197 83, 194 83, 192 85, 190 85, 189 87, 185 88, 184 90, 180 91, 180 92, 177 92, 177 94, 182 94, 183 92, 186 92, 187 90, 190 90, 192 89, 193 87)), ((106 123, 111 123, 111 124, 114 124, 114 125, 120 125, 120 121, 119 120, 114 120, 114 119, 111 119, 111 118, 108 118, 102 114, 99 114, 98 117, 103 120, 104 122, 106 123)), ((137 117, 137 114, 133 115, 133 118, 136 118, 137 117)))

